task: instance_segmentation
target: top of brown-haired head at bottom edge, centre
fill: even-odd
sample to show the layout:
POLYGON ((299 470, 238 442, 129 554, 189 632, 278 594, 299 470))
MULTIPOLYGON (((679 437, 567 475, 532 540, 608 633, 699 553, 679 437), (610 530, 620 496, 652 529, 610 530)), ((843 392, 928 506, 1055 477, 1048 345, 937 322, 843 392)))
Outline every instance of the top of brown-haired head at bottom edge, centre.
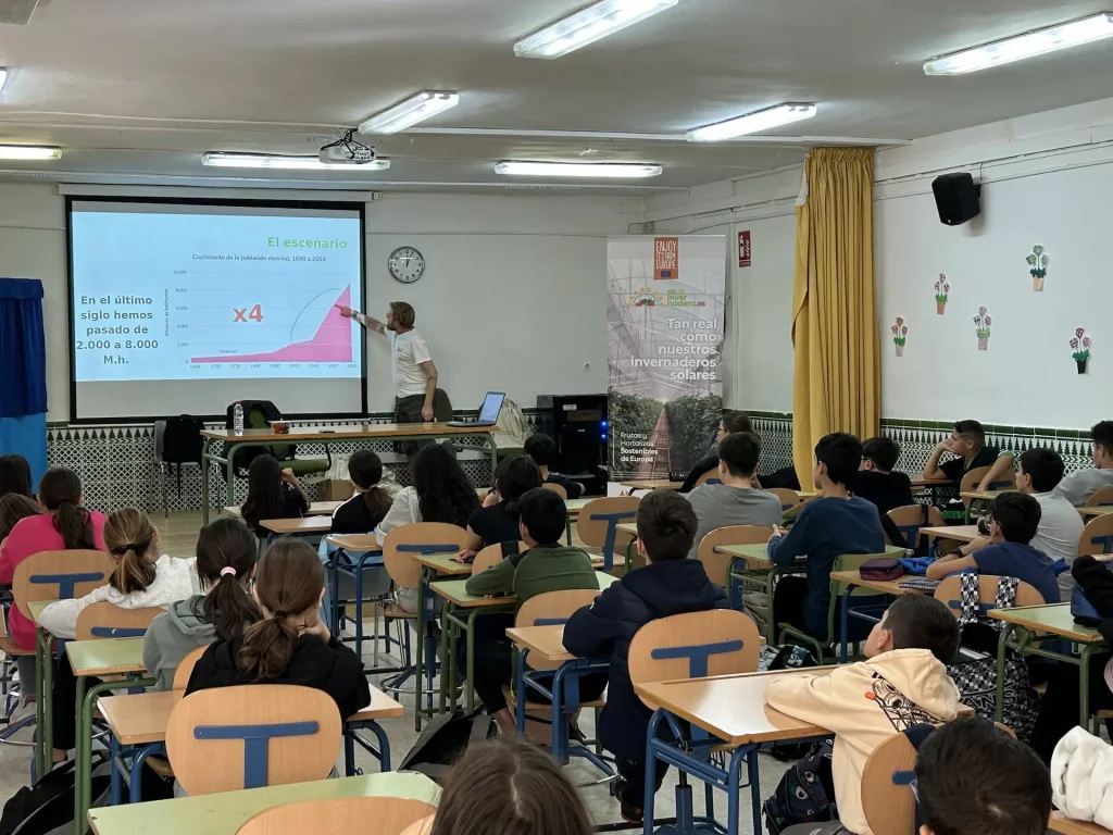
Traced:
POLYGON ((590 835, 583 798, 556 762, 519 739, 471 745, 456 762, 430 835, 590 835))

